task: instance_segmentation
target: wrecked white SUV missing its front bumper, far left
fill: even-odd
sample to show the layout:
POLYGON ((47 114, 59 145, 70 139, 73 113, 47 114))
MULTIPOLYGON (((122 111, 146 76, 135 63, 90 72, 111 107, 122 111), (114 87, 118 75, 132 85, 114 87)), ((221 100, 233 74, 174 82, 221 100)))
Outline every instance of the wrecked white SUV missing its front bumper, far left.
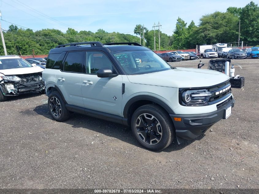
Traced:
POLYGON ((44 93, 42 71, 16 55, 0 56, 0 101, 23 93, 44 93))

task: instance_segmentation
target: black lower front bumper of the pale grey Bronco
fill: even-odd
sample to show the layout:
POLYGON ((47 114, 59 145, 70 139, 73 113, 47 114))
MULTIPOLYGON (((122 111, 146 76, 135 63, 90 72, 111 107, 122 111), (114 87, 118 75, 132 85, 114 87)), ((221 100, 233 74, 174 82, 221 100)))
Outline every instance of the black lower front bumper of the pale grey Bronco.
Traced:
POLYGON ((219 104, 219 108, 210 113, 197 115, 175 115, 170 114, 175 127, 178 144, 184 139, 195 139, 207 131, 209 127, 223 119, 225 109, 230 105, 234 107, 235 100, 231 97, 225 103, 219 104), (181 121, 175 121, 174 117, 181 118, 181 121))

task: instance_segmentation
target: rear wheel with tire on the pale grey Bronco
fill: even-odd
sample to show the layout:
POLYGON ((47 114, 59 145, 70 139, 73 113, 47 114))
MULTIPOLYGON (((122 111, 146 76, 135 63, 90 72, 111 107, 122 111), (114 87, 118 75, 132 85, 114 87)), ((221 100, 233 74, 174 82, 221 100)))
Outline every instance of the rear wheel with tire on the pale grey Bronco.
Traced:
POLYGON ((63 101, 60 93, 56 91, 52 92, 48 97, 48 109, 51 116, 59 122, 67 120, 70 116, 66 103, 63 101))

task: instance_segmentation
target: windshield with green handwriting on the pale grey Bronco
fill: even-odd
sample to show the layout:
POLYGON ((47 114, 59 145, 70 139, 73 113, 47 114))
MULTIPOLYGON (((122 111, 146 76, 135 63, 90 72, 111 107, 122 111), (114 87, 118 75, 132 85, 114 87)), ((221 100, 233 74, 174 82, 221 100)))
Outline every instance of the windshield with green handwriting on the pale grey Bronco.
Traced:
POLYGON ((112 55, 119 62, 122 69, 129 75, 147 74, 173 69, 153 51, 113 51, 112 55), (136 59, 141 59, 137 63, 136 59))

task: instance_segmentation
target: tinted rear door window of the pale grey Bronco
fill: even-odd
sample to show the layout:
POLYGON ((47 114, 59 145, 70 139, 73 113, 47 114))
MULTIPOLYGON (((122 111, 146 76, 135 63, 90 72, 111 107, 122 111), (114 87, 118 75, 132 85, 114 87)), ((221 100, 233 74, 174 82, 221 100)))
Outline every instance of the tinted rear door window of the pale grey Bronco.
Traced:
POLYGON ((67 58, 64 61, 64 71, 70 72, 83 72, 83 53, 79 52, 69 52, 67 58))

